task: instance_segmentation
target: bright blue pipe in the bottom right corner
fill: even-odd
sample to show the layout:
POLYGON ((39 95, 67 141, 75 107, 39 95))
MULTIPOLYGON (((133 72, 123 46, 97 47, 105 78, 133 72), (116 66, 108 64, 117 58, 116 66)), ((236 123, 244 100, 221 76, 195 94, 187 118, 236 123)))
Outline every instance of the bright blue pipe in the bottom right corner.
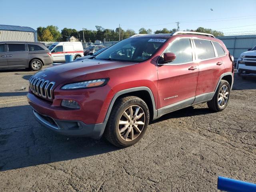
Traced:
POLYGON ((218 176, 219 190, 227 192, 256 192, 256 184, 218 176))

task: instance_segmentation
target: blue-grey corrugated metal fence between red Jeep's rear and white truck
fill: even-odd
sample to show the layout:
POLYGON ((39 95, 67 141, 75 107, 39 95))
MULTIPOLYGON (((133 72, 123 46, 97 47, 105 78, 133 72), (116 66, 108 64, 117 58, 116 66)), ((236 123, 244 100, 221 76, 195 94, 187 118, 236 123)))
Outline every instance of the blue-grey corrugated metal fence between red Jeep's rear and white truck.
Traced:
POLYGON ((242 52, 256 46, 256 35, 236 35, 216 37, 224 42, 234 60, 237 60, 242 52))

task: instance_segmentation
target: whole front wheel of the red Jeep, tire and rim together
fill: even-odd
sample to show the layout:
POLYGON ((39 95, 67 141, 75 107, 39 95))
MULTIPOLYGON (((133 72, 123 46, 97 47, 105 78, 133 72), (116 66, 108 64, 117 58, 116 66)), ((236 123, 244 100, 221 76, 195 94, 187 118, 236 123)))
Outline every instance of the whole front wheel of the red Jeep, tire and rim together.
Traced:
POLYGON ((110 114, 104 136, 115 146, 132 146, 143 137, 148 122, 148 106, 141 98, 120 98, 110 114))

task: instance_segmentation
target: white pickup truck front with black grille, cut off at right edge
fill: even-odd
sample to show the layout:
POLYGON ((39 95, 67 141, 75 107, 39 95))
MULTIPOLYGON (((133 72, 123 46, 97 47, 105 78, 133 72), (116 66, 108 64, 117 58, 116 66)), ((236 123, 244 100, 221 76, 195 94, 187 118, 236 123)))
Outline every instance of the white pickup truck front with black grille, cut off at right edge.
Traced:
POLYGON ((256 76, 256 46, 243 52, 236 62, 238 75, 256 76))

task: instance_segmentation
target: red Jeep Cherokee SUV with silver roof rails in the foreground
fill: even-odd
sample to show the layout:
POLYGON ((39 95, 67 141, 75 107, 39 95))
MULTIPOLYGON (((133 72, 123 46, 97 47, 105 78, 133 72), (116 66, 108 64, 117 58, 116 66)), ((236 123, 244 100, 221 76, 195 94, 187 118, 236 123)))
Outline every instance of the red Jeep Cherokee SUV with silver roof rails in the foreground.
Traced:
POLYGON ((44 126, 70 136, 104 134, 127 147, 169 112, 204 102, 224 110, 233 76, 233 57, 211 34, 135 35, 90 59, 37 72, 27 97, 44 126))

